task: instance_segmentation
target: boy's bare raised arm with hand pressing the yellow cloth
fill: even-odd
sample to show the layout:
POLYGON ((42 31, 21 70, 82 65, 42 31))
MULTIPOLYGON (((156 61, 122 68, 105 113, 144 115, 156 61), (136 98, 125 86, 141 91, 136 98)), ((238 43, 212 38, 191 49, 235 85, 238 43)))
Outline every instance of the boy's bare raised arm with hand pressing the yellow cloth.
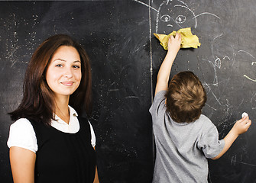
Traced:
POLYGON ((178 51, 180 50, 180 43, 181 35, 179 33, 176 34, 175 38, 173 36, 170 36, 168 40, 167 55, 165 56, 157 75, 157 85, 154 95, 162 90, 167 90, 170 70, 173 66, 173 61, 177 56, 178 51))

